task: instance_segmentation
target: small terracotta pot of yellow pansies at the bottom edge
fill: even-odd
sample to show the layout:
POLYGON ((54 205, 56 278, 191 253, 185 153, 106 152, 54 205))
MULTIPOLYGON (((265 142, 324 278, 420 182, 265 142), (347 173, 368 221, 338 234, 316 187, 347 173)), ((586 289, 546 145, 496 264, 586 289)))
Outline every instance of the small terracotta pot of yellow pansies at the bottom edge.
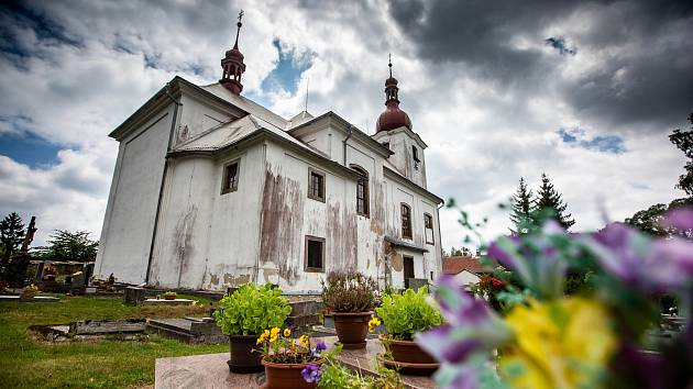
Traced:
POLYGON ((312 345, 310 337, 292 338, 290 329, 265 330, 257 337, 262 347, 262 364, 265 367, 266 389, 312 389, 315 380, 307 380, 324 362, 321 354, 327 349, 323 342, 312 345))

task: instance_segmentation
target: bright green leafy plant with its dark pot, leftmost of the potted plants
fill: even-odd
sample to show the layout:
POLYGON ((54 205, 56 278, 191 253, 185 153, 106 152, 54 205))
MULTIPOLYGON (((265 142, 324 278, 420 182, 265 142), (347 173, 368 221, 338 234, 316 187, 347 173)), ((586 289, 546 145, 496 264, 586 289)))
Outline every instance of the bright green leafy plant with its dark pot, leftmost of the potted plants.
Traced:
POLYGON ((246 284, 219 301, 213 315, 221 332, 229 335, 229 369, 233 373, 262 371, 256 340, 264 329, 280 326, 289 312, 282 290, 267 282, 261 287, 246 284))

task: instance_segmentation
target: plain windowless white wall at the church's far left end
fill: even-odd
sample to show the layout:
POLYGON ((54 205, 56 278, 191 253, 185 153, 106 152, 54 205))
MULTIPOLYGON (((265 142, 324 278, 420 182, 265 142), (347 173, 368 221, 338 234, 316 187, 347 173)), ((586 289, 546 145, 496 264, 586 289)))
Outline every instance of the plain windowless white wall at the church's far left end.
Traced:
POLYGON ((121 141, 109 194, 95 277, 141 284, 146 268, 173 104, 121 141))

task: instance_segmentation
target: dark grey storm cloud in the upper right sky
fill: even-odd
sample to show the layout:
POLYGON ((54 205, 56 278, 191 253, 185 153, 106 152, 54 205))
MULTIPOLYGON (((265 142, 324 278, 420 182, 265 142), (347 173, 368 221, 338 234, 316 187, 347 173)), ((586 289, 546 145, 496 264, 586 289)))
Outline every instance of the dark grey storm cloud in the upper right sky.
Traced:
POLYGON ((464 65, 496 87, 528 97, 557 91, 596 125, 644 124, 659 131, 691 109, 690 1, 407 0, 391 1, 389 12, 422 60, 464 65), (571 30, 570 18, 587 18, 591 27, 571 30), (544 29, 563 26, 574 33, 565 38, 581 47, 576 56, 593 55, 606 65, 566 79, 557 58, 541 55, 536 45, 520 49, 509 44, 522 37, 540 46, 544 29))

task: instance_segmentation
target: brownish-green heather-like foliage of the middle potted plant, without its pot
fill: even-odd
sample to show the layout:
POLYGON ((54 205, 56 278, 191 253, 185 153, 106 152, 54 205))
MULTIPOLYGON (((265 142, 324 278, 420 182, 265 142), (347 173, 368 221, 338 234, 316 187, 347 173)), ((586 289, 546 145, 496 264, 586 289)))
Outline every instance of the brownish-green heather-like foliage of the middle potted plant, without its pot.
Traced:
POLYGON ((361 273, 331 273, 322 281, 322 302, 333 312, 367 312, 375 307, 375 281, 361 273))

